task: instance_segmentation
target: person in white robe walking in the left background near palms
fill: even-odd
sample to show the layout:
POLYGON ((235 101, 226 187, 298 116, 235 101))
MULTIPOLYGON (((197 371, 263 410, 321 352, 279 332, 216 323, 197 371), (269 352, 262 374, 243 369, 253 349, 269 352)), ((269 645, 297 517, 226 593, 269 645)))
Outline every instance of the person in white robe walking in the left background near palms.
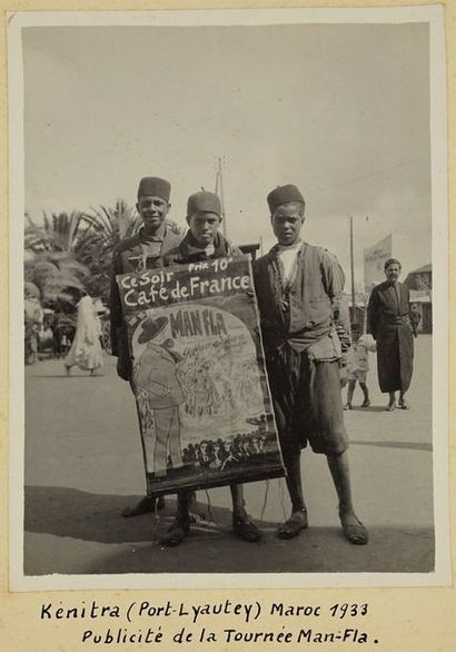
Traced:
POLYGON ((103 352, 100 344, 101 324, 93 300, 88 294, 81 297, 77 307, 78 322, 75 338, 63 364, 68 375, 73 366, 93 375, 103 366, 103 352))

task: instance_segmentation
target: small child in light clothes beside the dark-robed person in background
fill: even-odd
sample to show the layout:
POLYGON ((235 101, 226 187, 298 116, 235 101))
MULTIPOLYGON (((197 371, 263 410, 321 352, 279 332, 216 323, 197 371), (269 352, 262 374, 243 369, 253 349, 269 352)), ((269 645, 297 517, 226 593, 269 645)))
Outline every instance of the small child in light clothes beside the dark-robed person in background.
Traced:
POLYGON ((363 335, 360 324, 351 324, 351 349, 347 352, 348 391, 347 403, 344 409, 353 409, 353 396, 356 382, 359 383, 364 394, 361 407, 369 407, 369 389, 367 387, 367 372, 369 371, 369 352, 376 350, 376 344, 371 335, 363 335))

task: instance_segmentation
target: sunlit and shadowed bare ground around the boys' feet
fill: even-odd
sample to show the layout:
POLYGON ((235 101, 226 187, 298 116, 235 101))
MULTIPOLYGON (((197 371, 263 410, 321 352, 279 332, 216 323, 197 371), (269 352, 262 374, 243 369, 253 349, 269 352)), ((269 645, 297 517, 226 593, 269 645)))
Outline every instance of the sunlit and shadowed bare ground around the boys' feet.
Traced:
MULTIPOLYGON (((385 412, 376 381, 373 407, 346 413, 356 508, 370 532, 367 546, 341 535, 326 460, 306 451, 303 476, 310 527, 280 541, 277 524, 289 512, 284 480, 245 485, 247 507, 265 533, 248 544, 230 532, 228 487, 197 494, 206 520, 178 549, 161 549, 158 532, 175 507, 167 497, 157 518, 120 513, 145 491, 136 409, 128 384, 76 371, 60 360, 26 368, 24 573, 378 572, 434 567, 432 339, 416 340, 410 409, 385 412)), ((360 391, 355 404, 361 403, 360 391)))

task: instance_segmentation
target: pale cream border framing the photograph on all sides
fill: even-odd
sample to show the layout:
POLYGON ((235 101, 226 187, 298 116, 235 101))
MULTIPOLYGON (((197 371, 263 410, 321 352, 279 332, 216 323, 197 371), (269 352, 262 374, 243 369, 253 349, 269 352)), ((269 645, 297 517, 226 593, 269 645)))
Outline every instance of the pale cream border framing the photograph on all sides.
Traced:
MULTIPOLYGON (((61 589, 246 589, 445 586, 450 583, 448 485, 448 221, 445 26, 440 7, 383 9, 191 10, 159 12, 19 12, 9 19, 10 170, 23 170, 22 27, 108 24, 155 27, 218 24, 403 23, 428 22, 430 45, 430 134, 433 188, 433 441, 436 556, 434 573, 268 573, 258 574, 117 574, 24 576, 23 454, 24 392, 22 292, 10 290, 10 587, 13 591, 61 589), (248 16, 247 16, 248 13, 248 16), (386 14, 389 19, 386 20, 386 14), (265 22, 258 23, 261 19, 265 22), (146 20, 150 21, 146 22, 146 20), (62 22, 63 21, 63 22, 62 22), (240 22, 241 21, 241 22, 240 22), (438 266, 435 263, 438 260, 438 266), (18 364, 19 363, 19 364, 18 364), (19 367, 19 368, 18 368, 19 367), (445 375, 444 375, 445 369, 445 375), (20 433, 20 438, 17 434, 20 433), (21 551, 12 559, 12 551, 21 551)), ((22 287, 23 175, 10 176, 10 278, 22 287)))

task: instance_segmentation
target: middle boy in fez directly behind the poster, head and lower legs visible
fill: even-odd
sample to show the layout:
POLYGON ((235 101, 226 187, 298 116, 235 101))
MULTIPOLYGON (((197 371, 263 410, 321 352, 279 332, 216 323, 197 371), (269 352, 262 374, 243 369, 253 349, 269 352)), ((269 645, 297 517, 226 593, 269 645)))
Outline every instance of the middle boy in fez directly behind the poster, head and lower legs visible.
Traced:
MULTIPOLYGON (((219 233, 221 223, 220 199, 214 192, 196 192, 187 201, 187 223, 189 230, 178 247, 165 255, 165 266, 197 263, 228 256, 239 256, 240 249, 232 247, 219 233)), ((261 533, 249 520, 244 502, 241 484, 231 484, 232 530, 236 536, 247 542, 258 542, 261 533)), ((190 530, 189 504, 191 492, 178 492, 177 514, 174 523, 165 532, 161 545, 179 545, 190 530)))

